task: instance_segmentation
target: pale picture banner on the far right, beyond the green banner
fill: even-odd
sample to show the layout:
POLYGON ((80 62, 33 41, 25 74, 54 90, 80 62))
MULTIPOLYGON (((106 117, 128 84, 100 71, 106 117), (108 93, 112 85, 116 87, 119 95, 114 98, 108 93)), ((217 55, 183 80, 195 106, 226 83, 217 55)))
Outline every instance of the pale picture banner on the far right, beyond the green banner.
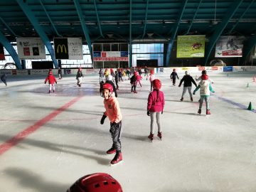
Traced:
POLYGON ((215 47, 215 58, 242 57, 244 36, 220 36, 215 47))

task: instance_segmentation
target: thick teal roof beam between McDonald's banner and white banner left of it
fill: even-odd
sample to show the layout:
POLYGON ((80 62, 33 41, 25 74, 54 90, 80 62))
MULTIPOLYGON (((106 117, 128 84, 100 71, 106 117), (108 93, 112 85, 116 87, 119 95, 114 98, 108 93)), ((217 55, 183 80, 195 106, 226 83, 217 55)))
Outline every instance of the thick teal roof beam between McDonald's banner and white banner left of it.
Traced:
POLYGON ((53 60, 53 64, 54 64, 55 68, 58 68, 58 62, 55 59, 53 46, 51 45, 50 40, 49 40, 48 36, 46 35, 46 32, 43 31, 43 28, 38 23, 36 16, 34 16, 33 12, 29 8, 29 6, 26 3, 24 3, 23 0, 16 0, 16 2, 21 7, 21 10, 23 11, 23 13, 27 16, 28 20, 31 22, 31 24, 35 28, 36 32, 38 33, 38 35, 41 37, 43 43, 45 43, 46 48, 48 49, 48 51, 50 53, 50 57, 53 60))

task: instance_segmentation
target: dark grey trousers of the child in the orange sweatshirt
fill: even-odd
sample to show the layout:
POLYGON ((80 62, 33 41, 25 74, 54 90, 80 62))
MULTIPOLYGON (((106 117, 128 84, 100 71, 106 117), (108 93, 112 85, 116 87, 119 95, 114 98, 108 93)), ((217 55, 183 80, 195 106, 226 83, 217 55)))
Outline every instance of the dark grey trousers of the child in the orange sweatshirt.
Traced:
POLYGON ((117 151, 121 151, 121 133, 122 133, 122 121, 118 122, 117 124, 110 123, 110 134, 112 137, 112 148, 116 149, 117 151))

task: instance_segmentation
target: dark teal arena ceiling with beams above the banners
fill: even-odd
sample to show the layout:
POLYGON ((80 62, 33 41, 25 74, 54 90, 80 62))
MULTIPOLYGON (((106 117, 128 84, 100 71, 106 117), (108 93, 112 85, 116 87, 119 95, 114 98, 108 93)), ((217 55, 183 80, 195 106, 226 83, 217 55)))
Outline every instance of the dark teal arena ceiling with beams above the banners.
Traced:
POLYGON ((8 0, 0 1, 0 24, 9 41, 45 33, 92 43, 168 42, 173 34, 212 36, 221 27, 222 35, 254 36, 256 1, 8 0))

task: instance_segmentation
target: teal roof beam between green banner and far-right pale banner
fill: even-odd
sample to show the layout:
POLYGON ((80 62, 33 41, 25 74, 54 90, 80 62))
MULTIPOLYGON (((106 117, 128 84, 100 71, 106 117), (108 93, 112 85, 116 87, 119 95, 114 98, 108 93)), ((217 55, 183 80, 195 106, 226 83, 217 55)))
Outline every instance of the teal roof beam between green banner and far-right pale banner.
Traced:
POLYGON ((220 37, 221 33, 223 33, 225 27, 228 25, 228 22, 235 14, 235 11, 238 10, 238 7, 240 4, 242 4, 242 1, 234 0, 233 4, 230 6, 230 8, 226 11, 227 14, 223 17, 223 21, 216 26, 215 31, 213 33, 213 36, 210 37, 209 44, 206 48, 206 54, 204 58, 203 64, 206 65, 208 58, 210 57, 210 52, 213 50, 213 47, 215 46, 215 43, 218 41, 218 38, 220 37))

